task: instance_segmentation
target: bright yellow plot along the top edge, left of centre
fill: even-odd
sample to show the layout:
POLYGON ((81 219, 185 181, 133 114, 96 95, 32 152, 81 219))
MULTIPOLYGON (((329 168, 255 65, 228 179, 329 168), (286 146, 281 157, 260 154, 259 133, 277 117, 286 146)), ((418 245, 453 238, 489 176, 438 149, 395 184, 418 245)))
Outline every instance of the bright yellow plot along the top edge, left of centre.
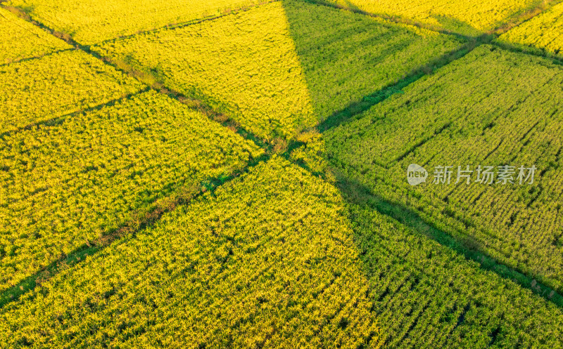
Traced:
POLYGON ((83 45, 166 25, 228 13, 262 0, 10 0, 47 27, 72 35, 83 45))

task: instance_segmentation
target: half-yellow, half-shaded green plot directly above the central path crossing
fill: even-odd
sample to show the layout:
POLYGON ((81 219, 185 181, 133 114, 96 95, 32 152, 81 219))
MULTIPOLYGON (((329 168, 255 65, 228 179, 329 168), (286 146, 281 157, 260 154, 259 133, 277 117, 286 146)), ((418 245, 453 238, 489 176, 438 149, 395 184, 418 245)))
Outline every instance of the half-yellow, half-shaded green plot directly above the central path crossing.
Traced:
POLYGON ((460 46, 415 27, 279 1, 93 49, 271 139, 291 138, 460 46))

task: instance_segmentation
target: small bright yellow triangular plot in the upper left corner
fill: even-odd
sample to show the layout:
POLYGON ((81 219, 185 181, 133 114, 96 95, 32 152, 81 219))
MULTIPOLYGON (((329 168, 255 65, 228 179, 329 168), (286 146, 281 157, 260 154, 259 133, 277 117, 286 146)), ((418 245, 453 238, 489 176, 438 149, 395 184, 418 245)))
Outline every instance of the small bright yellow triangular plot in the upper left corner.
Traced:
POLYGON ((4 8, 0 8, 0 38, 0 64, 72 47, 4 8))

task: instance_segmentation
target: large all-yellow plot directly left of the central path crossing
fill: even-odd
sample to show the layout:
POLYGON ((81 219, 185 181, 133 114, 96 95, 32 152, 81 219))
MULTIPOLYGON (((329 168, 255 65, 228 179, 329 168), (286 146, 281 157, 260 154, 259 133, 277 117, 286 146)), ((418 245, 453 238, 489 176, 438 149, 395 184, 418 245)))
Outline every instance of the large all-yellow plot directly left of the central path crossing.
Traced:
POLYGON ((0 291, 260 154, 153 91, 5 135, 0 291))

